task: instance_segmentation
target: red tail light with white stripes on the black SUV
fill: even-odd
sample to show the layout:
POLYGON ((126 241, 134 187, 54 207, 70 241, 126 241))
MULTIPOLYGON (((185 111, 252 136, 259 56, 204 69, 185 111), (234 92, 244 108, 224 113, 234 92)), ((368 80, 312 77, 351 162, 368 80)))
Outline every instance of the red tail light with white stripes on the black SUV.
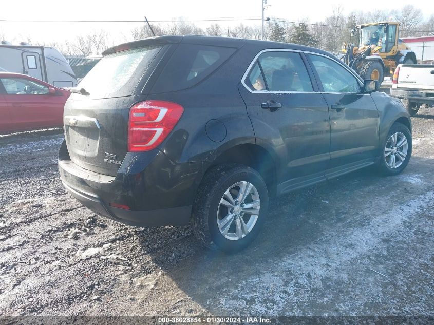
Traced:
POLYGON ((128 151, 149 151, 158 147, 181 118, 184 108, 165 101, 145 101, 129 110, 128 151))

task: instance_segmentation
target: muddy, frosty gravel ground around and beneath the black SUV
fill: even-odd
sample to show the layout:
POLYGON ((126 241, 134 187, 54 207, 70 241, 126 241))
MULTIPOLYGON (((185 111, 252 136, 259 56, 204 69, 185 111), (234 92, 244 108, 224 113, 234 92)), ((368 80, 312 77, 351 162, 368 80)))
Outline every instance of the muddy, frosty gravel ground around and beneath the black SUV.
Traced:
POLYGON ((404 173, 275 199, 247 250, 97 216, 59 179, 59 131, 0 137, 0 315, 434 315, 434 110, 404 173))

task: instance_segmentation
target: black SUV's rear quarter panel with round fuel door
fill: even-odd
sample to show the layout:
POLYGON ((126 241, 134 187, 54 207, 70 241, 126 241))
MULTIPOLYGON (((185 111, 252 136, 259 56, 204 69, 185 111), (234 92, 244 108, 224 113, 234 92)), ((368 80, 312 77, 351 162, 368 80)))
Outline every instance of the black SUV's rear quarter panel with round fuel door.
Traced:
POLYGON ((191 88, 163 93, 149 91, 146 100, 171 101, 184 107, 180 121, 161 146, 161 151, 173 162, 207 164, 237 144, 255 143, 252 123, 238 92, 238 84, 253 57, 241 46, 191 88), (214 127, 206 126, 213 122, 214 127))

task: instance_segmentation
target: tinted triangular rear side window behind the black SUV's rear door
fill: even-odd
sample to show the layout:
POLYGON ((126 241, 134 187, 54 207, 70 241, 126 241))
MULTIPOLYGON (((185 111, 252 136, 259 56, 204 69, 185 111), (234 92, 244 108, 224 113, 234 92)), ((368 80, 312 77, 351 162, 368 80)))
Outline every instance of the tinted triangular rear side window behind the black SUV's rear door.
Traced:
POLYGON ((153 92, 190 88, 212 72, 235 52, 235 48, 180 44, 164 67, 153 92))

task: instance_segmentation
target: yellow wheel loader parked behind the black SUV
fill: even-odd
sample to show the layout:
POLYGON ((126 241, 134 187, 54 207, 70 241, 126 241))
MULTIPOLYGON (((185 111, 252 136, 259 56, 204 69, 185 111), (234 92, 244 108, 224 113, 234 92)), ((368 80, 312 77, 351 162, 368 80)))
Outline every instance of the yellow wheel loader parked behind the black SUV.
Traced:
MULTIPOLYGON (((416 64, 416 54, 398 38, 398 22, 357 25, 359 46, 344 42, 342 60, 365 80, 378 80, 392 76, 398 64, 416 64)), ((351 31, 354 35, 356 29, 351 31)))

